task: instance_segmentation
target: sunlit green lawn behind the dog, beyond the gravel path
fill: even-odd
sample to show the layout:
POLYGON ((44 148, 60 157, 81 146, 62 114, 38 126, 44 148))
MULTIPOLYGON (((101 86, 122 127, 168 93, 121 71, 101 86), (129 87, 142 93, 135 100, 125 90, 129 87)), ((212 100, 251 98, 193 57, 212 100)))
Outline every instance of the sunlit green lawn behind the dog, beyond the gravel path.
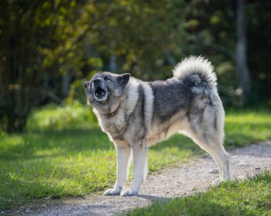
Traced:
MULTIPOLYGON (((90 111, 80 105, 36 110, 28 132, 0 132, 0 210, 39 199, 91 194, 113 185, 116 152, 90 111)), ((228 148, 271 138, 271 113, 227 113, 228 148)), ((189 138, 175 135, 150 148, 149 170, 203 153, 189 138)))

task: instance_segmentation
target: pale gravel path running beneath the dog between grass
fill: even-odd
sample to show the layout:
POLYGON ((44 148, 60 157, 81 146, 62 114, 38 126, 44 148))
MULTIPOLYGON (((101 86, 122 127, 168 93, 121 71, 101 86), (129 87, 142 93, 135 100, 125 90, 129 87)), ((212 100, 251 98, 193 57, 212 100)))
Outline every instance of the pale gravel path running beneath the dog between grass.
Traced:
MULTIPOLYGON (((271 169, 271 141, 230 150, 231 178, 244 178, 246 173, 257 173, 271 169)), ((218 170, 209 155, 201 155, 178 168, 162 170, 148 175, 140 195, 137 197, 95 197, 54 200, 36 206, 25 206, 14 210, 15 215, 115 215, 134 207, 163 202, 173 197, 183 197, 205 190, 215 178, 218 170)), ((130 186, 130 185, 128 185, 130 186)), ((127 187, 127 186, 126 186, 127 187)), ((3 212, 4 213, 4 212, 3 212)), ((9 213, 9 212, 5 212, 9 213)))

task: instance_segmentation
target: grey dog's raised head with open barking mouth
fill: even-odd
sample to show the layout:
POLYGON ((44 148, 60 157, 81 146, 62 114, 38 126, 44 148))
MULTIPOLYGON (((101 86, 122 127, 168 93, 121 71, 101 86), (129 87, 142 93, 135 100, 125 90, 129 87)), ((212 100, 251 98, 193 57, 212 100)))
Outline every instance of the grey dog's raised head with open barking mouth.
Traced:
POLYGON ((91 81, 86 81, 88 104, 101 110, 103 113, 112 112, 125 98, 125 87, 130 79, 129 73, 118 75, 115 73, 96 73, 91 81))

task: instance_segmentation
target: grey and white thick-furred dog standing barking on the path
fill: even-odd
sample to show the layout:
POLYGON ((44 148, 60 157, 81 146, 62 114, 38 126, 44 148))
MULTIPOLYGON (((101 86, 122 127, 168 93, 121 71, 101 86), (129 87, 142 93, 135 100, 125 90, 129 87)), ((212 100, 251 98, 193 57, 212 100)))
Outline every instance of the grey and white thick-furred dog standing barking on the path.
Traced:
POLYGON ((103 72, 83 83, 101 129, 116 146, 116 184, 105 195, 138 195, 147 171, 148 147, 175 133, 192 138, 215 160, 220 180, 230 179, 223 147, 223 104, 218 96, 213 66, 201 56, 190 56, 165 81, 144 82, 103 72), (123 190, 133 152, 133 183, 123 190))

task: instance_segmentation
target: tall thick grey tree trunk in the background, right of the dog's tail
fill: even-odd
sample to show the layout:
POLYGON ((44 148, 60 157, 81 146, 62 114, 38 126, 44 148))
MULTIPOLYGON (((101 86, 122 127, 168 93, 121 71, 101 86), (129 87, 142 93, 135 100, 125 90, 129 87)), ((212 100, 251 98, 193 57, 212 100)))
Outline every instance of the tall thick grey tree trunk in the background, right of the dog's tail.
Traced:
POLYGON ((236 68, 245 100, 250 96, 250 71, 247 66, 247 35, 245 32, 245 0, 237 0, 236 68))

